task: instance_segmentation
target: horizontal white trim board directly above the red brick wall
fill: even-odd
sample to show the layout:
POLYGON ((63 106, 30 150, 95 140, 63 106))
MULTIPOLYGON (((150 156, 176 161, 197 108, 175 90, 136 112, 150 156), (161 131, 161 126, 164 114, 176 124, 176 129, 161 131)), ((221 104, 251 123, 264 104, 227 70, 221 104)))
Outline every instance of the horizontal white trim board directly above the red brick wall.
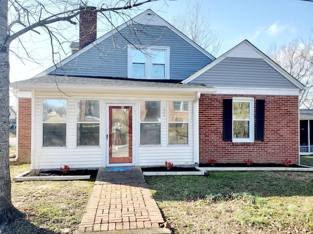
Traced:
POLYGON ((268 88, 236 88, 236 87, 217 87, 215 94, 233 95, 287 95, 299 96, 299 89, 268 89, 268 88))

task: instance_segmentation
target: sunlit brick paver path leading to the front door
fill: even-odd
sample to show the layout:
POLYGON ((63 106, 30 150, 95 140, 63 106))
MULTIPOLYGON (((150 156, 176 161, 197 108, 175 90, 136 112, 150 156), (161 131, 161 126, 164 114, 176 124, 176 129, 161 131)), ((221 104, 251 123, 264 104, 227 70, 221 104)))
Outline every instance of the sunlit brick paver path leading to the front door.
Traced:
POLYGON ((146 183, 95 184, 79 232, 159 228, 164 223, 146 183))

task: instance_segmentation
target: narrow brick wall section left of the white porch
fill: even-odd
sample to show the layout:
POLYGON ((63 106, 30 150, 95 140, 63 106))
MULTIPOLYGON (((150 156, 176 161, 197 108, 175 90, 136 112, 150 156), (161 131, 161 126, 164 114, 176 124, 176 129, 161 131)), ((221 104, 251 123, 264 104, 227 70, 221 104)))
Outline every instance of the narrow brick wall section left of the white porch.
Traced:
POLYGON ((31 155, 31 98, 19 98, 18 160, 30 162, 31 155))

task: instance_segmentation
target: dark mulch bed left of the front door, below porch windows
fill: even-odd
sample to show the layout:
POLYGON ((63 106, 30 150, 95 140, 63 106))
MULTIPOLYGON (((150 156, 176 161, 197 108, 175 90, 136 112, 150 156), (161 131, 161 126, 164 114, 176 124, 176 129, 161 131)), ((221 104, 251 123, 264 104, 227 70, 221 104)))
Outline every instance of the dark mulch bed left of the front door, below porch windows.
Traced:
POLYGON ((90 175, 90 180, 95 181, 98 174, 98 170, 70 170, 67 174, 63 174, 61 171, 45 171, 40 172, 36 175, 32 175, 31 173, 28 173, 25 175, 28 176, 88 176, 90 175))

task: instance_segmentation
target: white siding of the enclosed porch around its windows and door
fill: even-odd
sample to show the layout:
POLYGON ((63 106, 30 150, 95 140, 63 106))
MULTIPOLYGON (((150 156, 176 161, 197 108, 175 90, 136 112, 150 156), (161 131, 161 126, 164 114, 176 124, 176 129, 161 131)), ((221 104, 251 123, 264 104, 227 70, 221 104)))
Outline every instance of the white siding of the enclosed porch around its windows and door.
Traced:
POLYGON ((58 169, 64 165, 71 168, 98 168, 106 166, 107 155, 107 104, 110 103, 133 103, 134 104, 134 153, 133 162, 138 166, 164 165, 165 160, 171 161, 174 165, 193 164, 193 99, 195 96, 169 94, 162 96, 153 93, 119 94, 123 100, 112 97, 108 94, 73 94, 69 97, 61 96, 60 93, 35 92, 33 108, 33 136, 32 155, 37 158, 33 160, 32 167, 40 169, 58 169), (43 147, 43 122, 42 122, 42 100, 43 99, 67 99, 67 146, 66 147, 43 147), (126 98, 127 97, 127 98, 126 98), (78 99, 98 99, 100 104, 100 145, 99 146, 76 146, 76 105, 78 99), (161 101, 161 145, 138 146, 139 142, 139 100, 160 100, 161 101), (189 142, 186 145, 167 144, 167 101, 189 101, 188 134, 189 142), (165 110, 165 112, 164 112, 165 110))

